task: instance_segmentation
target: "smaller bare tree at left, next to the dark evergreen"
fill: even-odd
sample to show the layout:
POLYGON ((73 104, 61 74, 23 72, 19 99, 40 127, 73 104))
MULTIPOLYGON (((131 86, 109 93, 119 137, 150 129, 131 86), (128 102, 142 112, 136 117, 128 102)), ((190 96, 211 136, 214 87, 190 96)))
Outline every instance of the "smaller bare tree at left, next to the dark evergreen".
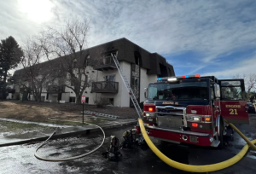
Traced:
POLYGON ((32 92, 35 100, 41 101, 41 94, 46 84, 53 81, 52 73, 56 67, 49 60, 49 52, 45 51, 42 39, 32 37, 26 40, 23 51, 24 56, 21 59, 22 70, 15 73, 15 84, 32 92), (44 63, 43 63, 44 61, 44 63))

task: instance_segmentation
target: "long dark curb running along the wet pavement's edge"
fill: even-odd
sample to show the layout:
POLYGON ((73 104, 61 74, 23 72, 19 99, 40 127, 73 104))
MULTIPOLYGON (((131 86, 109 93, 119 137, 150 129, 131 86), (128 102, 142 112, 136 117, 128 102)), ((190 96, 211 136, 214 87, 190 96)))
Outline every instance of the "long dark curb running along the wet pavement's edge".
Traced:
MULTIPOLYGON (((105 131, 108 129, 119 128, 119 127, 122 127, 125 125, 132 125, 132 124, 136 124, 136 123, 137 123, 137 120, 134 120, 134 121, 130 121, 130 122, 127 122, 124 124, 102 126, 102 129, 105 131)), ((99 128, 89 128, 86 130, 84 129, 82 131, 73 131, 73 132, 68 132, 68 133, 63 133, 63 134, 56 134, 56 135, 52 136, 51 139, 54 140, 54 139, 58 139, 58 138, 68 137, 68 136, 87 135, 87 134, 90 134, 91 132, 97 132, 97 131, 101 131, 101 130, 99 128)), ((0 147, 26 144, 29 142, 42 142, 42 141, 45 141, 47 138, 49 138, 49 136, 31 138, 31 139, 26 139, 26 140, 19 141, 19 142, 8 142, 8 143, 0 144, 0 147)))

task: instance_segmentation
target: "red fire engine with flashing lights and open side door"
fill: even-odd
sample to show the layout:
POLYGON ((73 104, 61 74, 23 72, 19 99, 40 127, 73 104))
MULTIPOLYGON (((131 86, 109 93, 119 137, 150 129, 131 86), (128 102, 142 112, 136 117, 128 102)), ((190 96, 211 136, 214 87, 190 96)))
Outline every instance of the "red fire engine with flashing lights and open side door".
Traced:
POLYGON ((143 123, 148 136, 160 141, 222 148, 229 130, 224 119, 249 124, 246 97, 243 79, 158 78, 145 88, 143 123))

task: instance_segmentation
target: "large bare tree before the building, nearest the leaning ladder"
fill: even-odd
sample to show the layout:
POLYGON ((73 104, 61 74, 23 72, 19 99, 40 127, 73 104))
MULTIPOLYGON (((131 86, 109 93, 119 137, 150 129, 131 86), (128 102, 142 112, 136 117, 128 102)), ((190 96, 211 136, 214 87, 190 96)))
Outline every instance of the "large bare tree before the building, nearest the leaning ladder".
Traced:
POLYGON ((84 90, 90 87, 93 79, 88 80, 89 75, 85 72, 85 67, 98 62, 97 59, 90 59, 85 50, 90 28, 89 21, 67 21, 65 26, 56 28, 49 27, 46 32, 50 40, 50 52, 60 57, 61 69, 57 76, 62 84, 73 90, 76 94, 76 103, 79 104, 84 90))

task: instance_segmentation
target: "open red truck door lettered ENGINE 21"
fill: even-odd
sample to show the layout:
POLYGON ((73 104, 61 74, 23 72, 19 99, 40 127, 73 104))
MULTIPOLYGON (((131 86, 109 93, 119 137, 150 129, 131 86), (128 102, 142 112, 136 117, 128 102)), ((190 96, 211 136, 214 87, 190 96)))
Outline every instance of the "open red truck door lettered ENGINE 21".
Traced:
POLYGON ((243 79, 218 80, 221 115, 230 123, 249 124, 243 79))

